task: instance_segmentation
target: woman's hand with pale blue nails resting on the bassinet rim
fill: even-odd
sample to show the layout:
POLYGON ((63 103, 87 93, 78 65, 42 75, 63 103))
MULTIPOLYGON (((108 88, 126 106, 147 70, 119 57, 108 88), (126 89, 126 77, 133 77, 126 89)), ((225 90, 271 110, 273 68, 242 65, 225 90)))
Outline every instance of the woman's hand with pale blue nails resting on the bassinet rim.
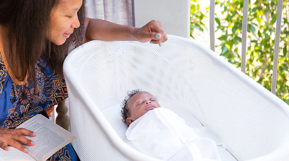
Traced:
POLYGON ((168 40, 163 25, 160 21, 152 20, 135 31, 135 37, 139 42, 145 43, 150 41, 154 44, 162 46, 163 42, 168 40))

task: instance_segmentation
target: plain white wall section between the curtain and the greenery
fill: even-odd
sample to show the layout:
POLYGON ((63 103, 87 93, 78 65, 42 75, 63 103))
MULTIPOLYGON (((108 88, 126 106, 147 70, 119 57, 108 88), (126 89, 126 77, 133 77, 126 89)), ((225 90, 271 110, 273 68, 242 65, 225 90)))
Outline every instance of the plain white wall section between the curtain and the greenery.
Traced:
POLYGON ((190 0, 135 0, 135 26, 151 20, 163 24, 166 34, 190 37, 190 0))

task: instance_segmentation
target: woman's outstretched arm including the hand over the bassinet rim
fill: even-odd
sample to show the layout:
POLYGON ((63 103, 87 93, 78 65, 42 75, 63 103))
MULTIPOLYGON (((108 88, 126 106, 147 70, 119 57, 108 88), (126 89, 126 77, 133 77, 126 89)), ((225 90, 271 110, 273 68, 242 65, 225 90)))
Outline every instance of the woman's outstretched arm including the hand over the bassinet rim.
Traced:
POLYGON ((167 40, 163 25, 156 20, 151 20, 141 28, 119 25, 102 19, 85 18, 85 34, 83 43, 91 40, 104 41, 150 41, 159 44, 167 40))

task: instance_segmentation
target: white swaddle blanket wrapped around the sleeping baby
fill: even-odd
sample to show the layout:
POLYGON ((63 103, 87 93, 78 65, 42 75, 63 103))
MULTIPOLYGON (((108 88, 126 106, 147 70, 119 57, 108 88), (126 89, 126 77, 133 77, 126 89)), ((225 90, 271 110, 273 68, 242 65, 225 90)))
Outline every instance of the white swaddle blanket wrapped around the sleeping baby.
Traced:
POLYGON ((213 140, 200 138, 185 120, 165 108, 148 111, 129 125, 138 151, 165 161, 221 161, 213 140))

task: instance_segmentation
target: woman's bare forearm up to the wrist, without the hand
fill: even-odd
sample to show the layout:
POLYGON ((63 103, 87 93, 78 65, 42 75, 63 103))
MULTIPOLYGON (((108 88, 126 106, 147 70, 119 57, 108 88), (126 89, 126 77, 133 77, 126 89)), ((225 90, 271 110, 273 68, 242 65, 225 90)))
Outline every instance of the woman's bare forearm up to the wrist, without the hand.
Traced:
POLYGON ((135 41, 135 27, 119 25, 102 19, 86 19, 85 42, 91 40, 135 41))

